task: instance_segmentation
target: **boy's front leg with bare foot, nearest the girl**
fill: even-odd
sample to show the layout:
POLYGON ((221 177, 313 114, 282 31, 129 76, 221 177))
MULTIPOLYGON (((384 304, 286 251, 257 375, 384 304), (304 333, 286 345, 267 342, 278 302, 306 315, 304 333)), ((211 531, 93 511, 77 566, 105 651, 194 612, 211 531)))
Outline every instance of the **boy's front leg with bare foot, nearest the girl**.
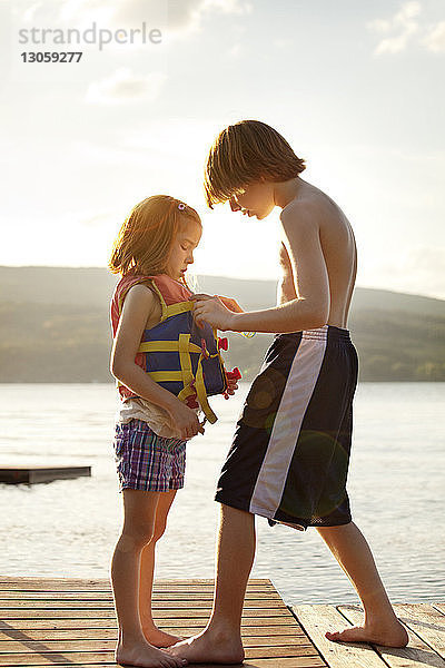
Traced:
POLYGON ((221 504, 214 609, 206 629, 169 651, 190 664, 244 659, 241 612, 255 559, 255 517, 221 504))

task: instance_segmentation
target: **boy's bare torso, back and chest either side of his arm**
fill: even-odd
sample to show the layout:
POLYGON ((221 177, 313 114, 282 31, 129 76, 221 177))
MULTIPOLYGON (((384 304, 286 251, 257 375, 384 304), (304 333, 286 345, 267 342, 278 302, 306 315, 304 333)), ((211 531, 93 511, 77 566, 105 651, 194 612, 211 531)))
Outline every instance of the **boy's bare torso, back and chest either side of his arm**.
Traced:
MULTIPOLYGON (((329 278, 330 307, 328 325, 347 328, 347 317, 357 272, 357 249, 350 223, 342 209, 322 190, 303 181, 297 197, 287 206, 295 210, 310 198, 313 210, 318 212, 314 225, 319 229, 322 250, 329 278)), ((294 276, 289 253, 289 240, 283 232, 279 262, 281 279, 278 285, 277 304, 298 297, 297 277, 294 276)))

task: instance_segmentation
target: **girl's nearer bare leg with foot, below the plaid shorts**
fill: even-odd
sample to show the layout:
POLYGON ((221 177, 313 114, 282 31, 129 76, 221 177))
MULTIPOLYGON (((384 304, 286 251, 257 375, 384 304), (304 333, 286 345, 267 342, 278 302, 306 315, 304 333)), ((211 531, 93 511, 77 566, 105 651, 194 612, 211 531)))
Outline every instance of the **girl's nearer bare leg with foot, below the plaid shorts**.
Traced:
POLYGON ((144 547, 154 536, 158 492, 122 491, 123 528, 111 560, 111 584, 119 625, 116 661, 147 668, 176 668, 172 657, 147 642, 139 618, 139 569, 144 547))

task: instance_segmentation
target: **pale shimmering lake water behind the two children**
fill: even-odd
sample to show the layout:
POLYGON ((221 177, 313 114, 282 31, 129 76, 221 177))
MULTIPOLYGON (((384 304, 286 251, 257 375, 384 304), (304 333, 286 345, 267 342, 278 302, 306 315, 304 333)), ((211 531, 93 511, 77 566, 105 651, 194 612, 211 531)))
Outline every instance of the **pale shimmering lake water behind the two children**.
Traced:
MULTIPOLYGON (((214 489, 247 393, 212 400, 219 416, 188 445, 187 482, 159 543, 157 577, 211 578, 218 504, 214 489)), ((91 478, 0 484, 6 576, 109 574, 122 521, 112 454, 115 389, 108 384, 0 385, 0 464, 90 464, 91 478)), ((394 602, 445 598, 445 383, 364 383, 355 400, 348 491, 394 602)), ((287 603, 357 597, 315 529, 257 520, 253 576, 287 603)))

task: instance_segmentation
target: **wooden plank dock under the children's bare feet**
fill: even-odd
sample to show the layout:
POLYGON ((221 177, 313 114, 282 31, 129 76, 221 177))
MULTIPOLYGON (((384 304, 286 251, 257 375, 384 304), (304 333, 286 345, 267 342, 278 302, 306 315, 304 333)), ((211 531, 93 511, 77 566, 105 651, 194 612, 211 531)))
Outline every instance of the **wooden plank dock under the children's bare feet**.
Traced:
MULTIPOLYGON (((204 628, 211 598, 211 580, 157 580, 155 619, 166 631, 190 636, 204 628)), ((0 577, 0 666, 117 666, 107 579, 0 577)), ((250 580, 243 615, 244 666, 445 668, 445 605, 400 605, 396 610, 409 632, 407 648, 333 644, 325 631, 355 623, 357 606, 291 610, 269 580, 250 580)))

